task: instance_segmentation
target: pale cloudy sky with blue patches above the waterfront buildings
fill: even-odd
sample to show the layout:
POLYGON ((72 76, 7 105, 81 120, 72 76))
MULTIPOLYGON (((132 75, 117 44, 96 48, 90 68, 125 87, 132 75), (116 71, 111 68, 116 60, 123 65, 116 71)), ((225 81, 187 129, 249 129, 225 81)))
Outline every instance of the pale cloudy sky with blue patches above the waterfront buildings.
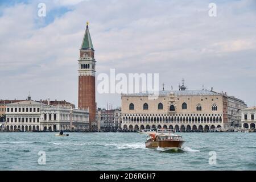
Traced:
MULTIPOLYGON (((0 98, 76 104, 86 22, 96 72, 159 73, 159 87, 226 92, 256 104, 254 0, 0 0, 0 98), (46 16, 38 16, 39 3, 46 16), (215 3, 217 16, 209 16, 215 3)), ((96 86, 97 81, 96 75, 96 86)), ((161 89, 161 88, 159 88, 161 89)), ((96 93, 97 107, 121 106, 96 93)))

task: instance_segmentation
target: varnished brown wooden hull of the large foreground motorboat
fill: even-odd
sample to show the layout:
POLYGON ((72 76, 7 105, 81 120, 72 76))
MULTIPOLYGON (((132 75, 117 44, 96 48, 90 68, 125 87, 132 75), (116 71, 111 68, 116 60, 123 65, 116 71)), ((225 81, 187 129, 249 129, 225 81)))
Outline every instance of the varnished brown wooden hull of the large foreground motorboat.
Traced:
POLYGON ((164 140, 164 141, 154 141, 154 142, 145 142, 146 148, 181 148, 184 141, 175 141, 175 140, 164 140))

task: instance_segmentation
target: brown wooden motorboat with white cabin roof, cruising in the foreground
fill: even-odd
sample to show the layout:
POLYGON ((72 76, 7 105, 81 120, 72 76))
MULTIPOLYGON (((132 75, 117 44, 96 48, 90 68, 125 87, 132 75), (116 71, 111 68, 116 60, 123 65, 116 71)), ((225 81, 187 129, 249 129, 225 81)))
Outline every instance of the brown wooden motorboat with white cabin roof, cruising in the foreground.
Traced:
POLYGON ((147 136, 145 142, 146 148, 181 148, 185 141, 179 135, 173 133, 169 129, 159 129, 157 133, 151 133, 147 136))

